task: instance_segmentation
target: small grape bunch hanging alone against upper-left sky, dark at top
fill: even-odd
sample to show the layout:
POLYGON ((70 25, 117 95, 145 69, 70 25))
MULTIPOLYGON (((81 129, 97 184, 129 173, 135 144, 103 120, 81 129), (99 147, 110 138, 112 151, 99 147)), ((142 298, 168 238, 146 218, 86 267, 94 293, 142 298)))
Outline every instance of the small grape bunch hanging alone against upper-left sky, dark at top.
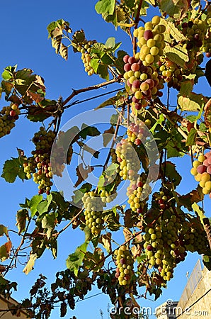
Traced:
POLYGON ((91 67, 91 47, 96 43, 96 40, 86 40, 84 31, 77 31, 74 33, 72 38, 72 45, 76 49, 76 51, 81 52, 81 60, 84 63, 85 72, 88 75, 94 74, 93 67, 91 67))

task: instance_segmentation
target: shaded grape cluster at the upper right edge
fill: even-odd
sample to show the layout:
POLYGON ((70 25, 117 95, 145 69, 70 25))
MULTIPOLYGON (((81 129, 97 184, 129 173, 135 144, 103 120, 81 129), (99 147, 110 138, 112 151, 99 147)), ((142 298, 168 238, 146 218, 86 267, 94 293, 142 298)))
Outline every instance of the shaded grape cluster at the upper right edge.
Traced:
POLYGON ((203 21, 200 18, 190 19, 188 22, 181 24, 183 35, 186 35, 188 40, 184 44, 187 50, 203 50, 206 52, 207 57, 211 53, 211 40, 210 40, 210 25, 211 19, 207 14, 207 20, 203 21))

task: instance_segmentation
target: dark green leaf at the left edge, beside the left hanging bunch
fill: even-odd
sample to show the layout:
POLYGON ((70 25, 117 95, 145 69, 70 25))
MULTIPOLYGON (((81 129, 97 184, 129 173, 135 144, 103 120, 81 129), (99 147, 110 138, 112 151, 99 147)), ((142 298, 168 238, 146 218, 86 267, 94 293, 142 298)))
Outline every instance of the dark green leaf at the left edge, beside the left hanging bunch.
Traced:
POLYGON ((23 159, 21 157, 12 159, 7 159, 4 163, 3 172, 1 177, 3 177, 8 183, 13 183, 16 180, 16 177, 21 173, 25 177, 23 172, 23 159))

